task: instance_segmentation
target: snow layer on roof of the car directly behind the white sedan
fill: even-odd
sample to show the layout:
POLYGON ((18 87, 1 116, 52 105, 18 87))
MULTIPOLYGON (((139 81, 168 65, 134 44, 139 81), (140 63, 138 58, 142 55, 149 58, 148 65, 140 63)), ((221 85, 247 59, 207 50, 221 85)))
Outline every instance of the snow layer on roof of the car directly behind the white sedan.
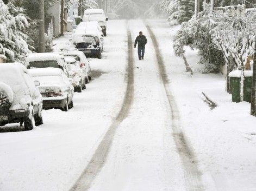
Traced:
POLYGON ((54 52, 29 54, 26 58, 26 65, 28 65, 29 62, 52 60, 57 61, 61 66, 63 66, 63 62, 61 62, 61 55, 54 52))

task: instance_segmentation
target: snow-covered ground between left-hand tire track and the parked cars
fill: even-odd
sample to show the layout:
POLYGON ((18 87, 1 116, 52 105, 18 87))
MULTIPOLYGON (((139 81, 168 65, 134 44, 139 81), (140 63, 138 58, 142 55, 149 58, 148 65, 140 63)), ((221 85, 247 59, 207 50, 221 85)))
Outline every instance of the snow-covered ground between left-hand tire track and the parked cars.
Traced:
MULTIPOLYGON (((55 43, 68 44, 69 37, 55 43)), ((63 191, 76 182, 123 101, 126 22, 108 22, 104 49, 102 60, 90 62, 92 81, 75 93, 73 109, 44 110, 44 124, 32 131, 18 131, 17 124, 0 128, 18 131, 0 133, 1 191, 63 191)))

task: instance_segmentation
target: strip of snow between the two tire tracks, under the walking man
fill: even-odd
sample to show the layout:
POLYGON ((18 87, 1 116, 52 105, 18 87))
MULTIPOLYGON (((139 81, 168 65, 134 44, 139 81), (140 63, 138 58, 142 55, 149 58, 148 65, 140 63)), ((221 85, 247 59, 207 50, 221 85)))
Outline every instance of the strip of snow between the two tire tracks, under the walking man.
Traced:
POLYGON ((132 38, 148 37, 145 60, 134 49, 134 101, 114 137, 108 160, 91 191, 185 189, 182 164, 171 136, 171 114, 153 43, 142 21, 129 21, 132 38))

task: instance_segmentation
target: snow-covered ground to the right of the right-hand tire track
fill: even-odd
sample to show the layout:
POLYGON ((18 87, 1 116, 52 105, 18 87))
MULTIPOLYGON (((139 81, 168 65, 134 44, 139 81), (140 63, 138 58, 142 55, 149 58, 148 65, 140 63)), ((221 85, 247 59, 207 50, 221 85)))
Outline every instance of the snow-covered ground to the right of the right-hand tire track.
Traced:
POLYGON ((250 104, 232 103, 219 74, 201 74, 195 51, 186 50, 194 75, 185 73, 184 62, 175 57, 172 39, 179 27, 170 29, 165 21, 149 21, 160 44, 170 88, 173 90, 183 130, 199 161, 207 190, 256 190, 256 118, 250 104), (203 101, 202 91, 217 107, 203 101))

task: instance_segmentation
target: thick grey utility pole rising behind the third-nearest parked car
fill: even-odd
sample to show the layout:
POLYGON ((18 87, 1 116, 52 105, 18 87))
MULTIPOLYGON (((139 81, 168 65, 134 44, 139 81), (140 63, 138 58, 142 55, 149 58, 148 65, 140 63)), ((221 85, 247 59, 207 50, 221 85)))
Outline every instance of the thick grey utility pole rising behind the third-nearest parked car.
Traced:
POLYGON ((39 52, 45 52, 45 0, 39 0, 39 52))

